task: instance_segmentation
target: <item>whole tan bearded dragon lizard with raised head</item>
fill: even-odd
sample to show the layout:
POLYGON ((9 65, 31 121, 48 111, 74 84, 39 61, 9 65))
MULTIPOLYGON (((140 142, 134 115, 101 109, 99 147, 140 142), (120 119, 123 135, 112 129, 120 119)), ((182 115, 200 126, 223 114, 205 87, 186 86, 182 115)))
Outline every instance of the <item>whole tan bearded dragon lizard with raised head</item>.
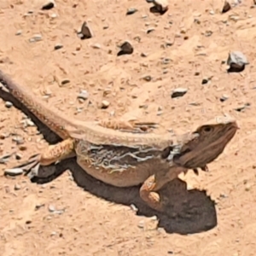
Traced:
POLYGON ((135 127, 131 124, 67 118, 2 71, 0 83, 63 139, 27 161, 29 169, 36 166, 35 175, 40 165, 76 155, 79 166, 104 183, 117 187, 143 183, 141 197, 158 211, 164 210, 165 203, 157 191, 188 169, 207 170, 207 164, 223 152, 238 128, 236 120, 218 117, 182 136, 136 134, 131 132, 135 127), (119 131, 127 127, 130 132, 119 131))

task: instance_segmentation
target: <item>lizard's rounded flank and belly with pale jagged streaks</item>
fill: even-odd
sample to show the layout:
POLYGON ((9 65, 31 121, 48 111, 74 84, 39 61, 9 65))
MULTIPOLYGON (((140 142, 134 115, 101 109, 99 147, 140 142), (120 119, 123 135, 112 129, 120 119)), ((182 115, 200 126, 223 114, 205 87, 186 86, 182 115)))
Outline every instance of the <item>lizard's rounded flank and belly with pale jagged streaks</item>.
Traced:
POLYGON ((161 150, 145 145, 128 147, 96 145, 79 141, 75 146, 77 162, 85 172, 116 187, 143 183, 158 169, 161 150))

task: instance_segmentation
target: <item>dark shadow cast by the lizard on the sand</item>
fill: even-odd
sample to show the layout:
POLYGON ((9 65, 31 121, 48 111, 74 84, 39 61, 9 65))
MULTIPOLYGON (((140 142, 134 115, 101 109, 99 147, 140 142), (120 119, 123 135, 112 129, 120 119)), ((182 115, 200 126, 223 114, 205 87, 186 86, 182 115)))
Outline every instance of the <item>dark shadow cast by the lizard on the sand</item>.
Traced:
MULTIPOLYGON (((61 141, 61 138, 50 131, 35 115, 24 107, 15 97, 5 90, 0 89, 0 97, 4 101, 12 102, 15 108, 19 108, 29 116, 38 130, 42 132, 46 141, 50 144, 61 141)), ((160 195, 168 197, 169 202, 166 212, 156 212, 148 207, 139 196, 139 187, 116 188, 102 183, 91 177, 76 163, 75 158, 62 160, 57 165, 41 166, 39 176, 32 178, 33 183, 49 183, 63 172, 69 169, 73 174, 75 183, 85 191, 90 192, 107 201, 122 204, 125 206, 134 205, 137 207, 137 215, 146 217, 157 216, 158 227, 164 228, 166 233, 178 233, 182 235, 199 233, 211 230, 217 225, 217 214, 215 203, 207 196, 206 191, 197 189, 187 190, 186 183, 175 179, 160 190, 160 195)))

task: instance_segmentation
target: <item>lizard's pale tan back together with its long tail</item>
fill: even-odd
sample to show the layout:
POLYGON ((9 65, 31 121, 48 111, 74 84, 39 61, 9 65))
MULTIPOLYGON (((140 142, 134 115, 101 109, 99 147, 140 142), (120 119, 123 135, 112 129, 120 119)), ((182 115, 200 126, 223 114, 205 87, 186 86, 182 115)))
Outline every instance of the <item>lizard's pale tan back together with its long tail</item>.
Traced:
POLYGON ((166 148, 177 143, 176 136, 167 132, 158 134, 136 134, 125 131, 118 131, 96 125, 93 121, 81 121, 72 119, 61 113, 61 111, 49 107, 49 105, 28 90, 25 86, 15 83, 13 79, 0 70, 0 83, 10 93, 26 106, 45 125, 58 134, 62 139, 73 137, 77 140, 84 140, 94 144, 113 144, 126 146, 148 145, 155 148, 166 148))

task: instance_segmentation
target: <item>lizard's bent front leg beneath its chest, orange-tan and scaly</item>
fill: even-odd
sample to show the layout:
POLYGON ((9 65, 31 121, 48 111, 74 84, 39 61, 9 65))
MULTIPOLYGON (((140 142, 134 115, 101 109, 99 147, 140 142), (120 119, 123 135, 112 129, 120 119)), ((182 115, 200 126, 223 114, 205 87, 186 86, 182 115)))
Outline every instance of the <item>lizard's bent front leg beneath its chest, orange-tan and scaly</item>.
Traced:
POLYGON ((181 172, 186 172, 187 169, 179 166, 172 166, 169 170, 159 170, 154 175, 148 177, 140 189, 140 196, 148 204, 148 207, 156 211, 163 212, 165 210, 167 198, 161 197, 157 192, 163 188, 166 183, 177 178, 181 172))

